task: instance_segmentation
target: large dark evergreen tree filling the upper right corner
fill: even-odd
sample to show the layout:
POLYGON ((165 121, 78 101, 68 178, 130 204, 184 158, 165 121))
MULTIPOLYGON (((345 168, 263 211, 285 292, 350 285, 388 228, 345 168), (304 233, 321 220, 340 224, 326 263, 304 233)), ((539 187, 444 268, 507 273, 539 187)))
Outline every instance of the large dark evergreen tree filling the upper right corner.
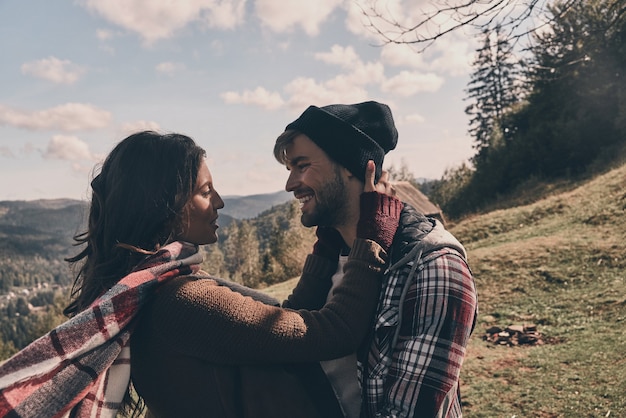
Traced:
POLYGON ((550 11, 550 30, 530 48, 519 147, 532 150, 533 175, 579 175, 625 143, 626 1, 588 0, 567 9, 557 1, 550 11))

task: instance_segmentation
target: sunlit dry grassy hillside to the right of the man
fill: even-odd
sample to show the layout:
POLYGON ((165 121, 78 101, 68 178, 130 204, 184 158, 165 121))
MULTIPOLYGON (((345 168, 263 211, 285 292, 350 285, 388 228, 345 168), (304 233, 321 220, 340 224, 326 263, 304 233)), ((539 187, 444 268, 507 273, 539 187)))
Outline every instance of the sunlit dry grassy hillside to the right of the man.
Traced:
MULTIPOLYGON (((465 416, 626 416, 626 166, 450 230, 479 292, 465 416), (537 325, 539 344, 483 339, 490 327, 524 324, 537 325)), ((267 291, 282 298, 293 284, 267 291)))

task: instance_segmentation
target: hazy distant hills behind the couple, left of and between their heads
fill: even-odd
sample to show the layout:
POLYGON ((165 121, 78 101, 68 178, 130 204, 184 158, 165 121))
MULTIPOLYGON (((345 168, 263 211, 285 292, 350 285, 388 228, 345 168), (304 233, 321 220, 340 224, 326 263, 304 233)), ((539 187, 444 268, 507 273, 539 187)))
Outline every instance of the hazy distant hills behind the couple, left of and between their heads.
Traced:
MULTIPOLYGON (((218 223, 224 228, 289 199, 286 192, 226 197, 218 223)), ((88 203, 81 200, 0 201, 0 295, 42 283, 69 285, 74 275, 63 260, 77 254, 73 236, 87 217, 88 203)))

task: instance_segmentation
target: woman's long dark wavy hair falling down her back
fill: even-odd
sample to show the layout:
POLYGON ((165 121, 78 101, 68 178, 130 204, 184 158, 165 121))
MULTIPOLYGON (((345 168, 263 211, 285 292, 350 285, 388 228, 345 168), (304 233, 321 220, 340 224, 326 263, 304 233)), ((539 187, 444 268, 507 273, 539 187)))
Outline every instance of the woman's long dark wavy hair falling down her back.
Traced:
POLYGON ((122 140, 91 182, 85 247, 66 259, 78 267, 66 316, 87 308, 145 256, 173 241, 205 151, 180 134, 138 132, 122 140))

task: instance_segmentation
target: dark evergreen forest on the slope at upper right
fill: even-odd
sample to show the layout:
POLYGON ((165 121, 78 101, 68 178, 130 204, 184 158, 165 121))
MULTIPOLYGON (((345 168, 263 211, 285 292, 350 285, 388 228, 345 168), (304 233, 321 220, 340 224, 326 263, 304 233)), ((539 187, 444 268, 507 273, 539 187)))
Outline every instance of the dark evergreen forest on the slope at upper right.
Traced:
POLYGON ((626 2, 555 1, 548 10, 550 24, 524 48, 499 25, 483 30, 466 89, 476 153, 427 185, 448 217, 624 161, 626 2))

